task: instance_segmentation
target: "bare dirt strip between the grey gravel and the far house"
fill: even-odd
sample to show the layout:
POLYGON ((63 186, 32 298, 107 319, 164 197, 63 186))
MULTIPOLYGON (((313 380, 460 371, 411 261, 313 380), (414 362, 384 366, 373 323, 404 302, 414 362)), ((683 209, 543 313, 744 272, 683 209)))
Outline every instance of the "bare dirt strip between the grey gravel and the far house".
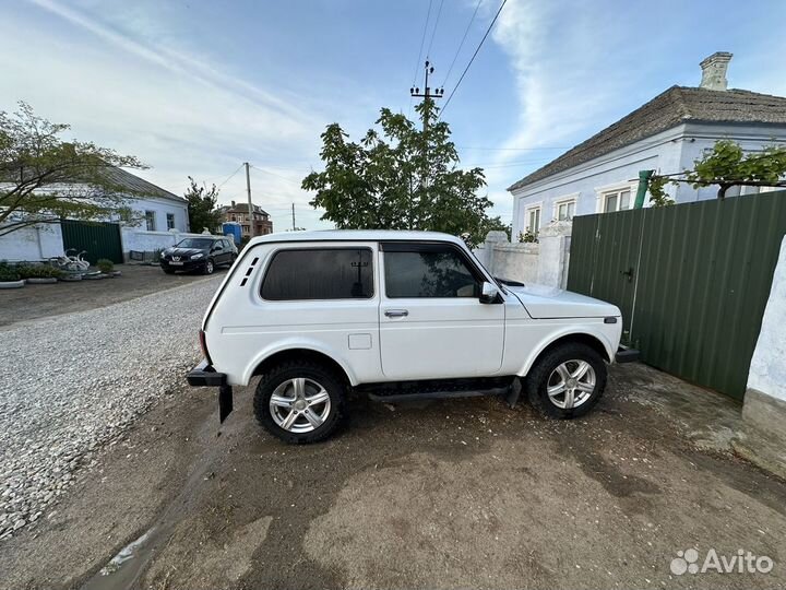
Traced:
POLYGON ((118 264, 116 270, 122 274, 115 279, 0 290, 0 331, 12 323, 105 307, 204 279, 196 273, 165 274, 159 267, 141 264, 118 264))

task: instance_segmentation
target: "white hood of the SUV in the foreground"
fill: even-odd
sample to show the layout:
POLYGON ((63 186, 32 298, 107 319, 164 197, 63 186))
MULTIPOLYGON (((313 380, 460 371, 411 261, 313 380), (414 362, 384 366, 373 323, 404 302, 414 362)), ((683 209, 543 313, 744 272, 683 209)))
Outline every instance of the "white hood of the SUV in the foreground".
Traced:
POLYGON ((535 319, 620 316, 620 310, 616 305, 563 288, 546 285, 507 286, 505 288, 521 300, 529 316, 535 319))

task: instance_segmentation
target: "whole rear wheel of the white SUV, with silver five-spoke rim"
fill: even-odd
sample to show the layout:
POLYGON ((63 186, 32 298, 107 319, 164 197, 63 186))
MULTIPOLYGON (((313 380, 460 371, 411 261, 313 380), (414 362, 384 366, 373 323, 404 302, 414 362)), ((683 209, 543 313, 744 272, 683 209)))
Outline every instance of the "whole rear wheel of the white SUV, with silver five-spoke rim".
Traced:
POLYGON ((254 414, 262 427, 286 442, 318 442, 342 424, 345 393, 344 380, 322 365, 282 363, 257 386, 254 414))

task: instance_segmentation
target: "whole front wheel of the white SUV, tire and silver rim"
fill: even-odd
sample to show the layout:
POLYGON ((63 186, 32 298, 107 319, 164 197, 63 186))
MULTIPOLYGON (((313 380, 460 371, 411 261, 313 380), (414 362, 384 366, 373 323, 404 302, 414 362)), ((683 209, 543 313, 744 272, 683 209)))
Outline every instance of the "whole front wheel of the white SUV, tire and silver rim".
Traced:
POLYGON ((580 342, 561 344, 535 362, 526 377, 529 403, 552 418, 580 417, 606 389, 606 363, 580 342))

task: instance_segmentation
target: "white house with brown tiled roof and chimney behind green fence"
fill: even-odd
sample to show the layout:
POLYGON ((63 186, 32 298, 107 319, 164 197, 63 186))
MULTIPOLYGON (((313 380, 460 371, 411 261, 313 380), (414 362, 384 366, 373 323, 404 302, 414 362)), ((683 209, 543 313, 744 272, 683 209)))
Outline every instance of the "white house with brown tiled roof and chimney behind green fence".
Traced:
MULTIPOLYGON (((786 98, 727 90, 730 59, 727 52, 710 56, 701 62, 699 87, 671 86, 512 185, 513 236, 537 233, 553 220, 630 209, 641 170, 691 169, 717 140, 734 140, 746 151, 786 142, 786 98)), ((746 187, 741 192, 758 190, 746 187)), ((715 198, 717 187, 694 190, 680 184, 667 192, 688 202, 715 198)), ((726 194, 740 194, 740 188, 726 194)))

